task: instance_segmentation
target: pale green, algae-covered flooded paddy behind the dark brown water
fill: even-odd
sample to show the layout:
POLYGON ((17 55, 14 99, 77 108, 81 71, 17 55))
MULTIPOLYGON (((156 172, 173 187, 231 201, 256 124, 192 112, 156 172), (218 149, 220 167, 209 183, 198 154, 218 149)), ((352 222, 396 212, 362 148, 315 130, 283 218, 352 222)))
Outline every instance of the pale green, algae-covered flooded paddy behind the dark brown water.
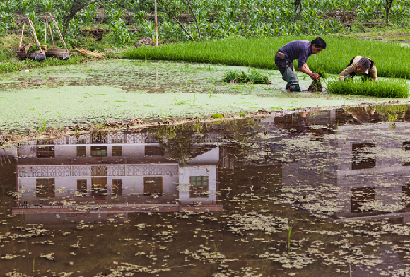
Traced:
MULTIPOLYGON (((272 85, 228 85, 229 70, 247 68, 165 61, 111 60, 30 69, 0 76, 0 128, 11 134, 107 121, 181 119, 260 109, 337 107, 392 99, 327 93, 286 93, 279 71, 261 72, 272 85)), ((300 73, 300 85, 310 78, 300 73)))

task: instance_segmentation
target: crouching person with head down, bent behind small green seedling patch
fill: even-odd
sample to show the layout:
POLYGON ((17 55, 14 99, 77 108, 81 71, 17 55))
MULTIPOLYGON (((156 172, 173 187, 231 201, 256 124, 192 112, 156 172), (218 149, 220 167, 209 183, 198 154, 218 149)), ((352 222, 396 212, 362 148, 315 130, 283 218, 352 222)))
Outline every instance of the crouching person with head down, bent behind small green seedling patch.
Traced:
POLYGON ((339 80, 349 80, 356 74, 363 74, 364 79, 377 81, 375 63, 368 57, 356 56, 348 63, 347 68, 339 74, 339 80))

